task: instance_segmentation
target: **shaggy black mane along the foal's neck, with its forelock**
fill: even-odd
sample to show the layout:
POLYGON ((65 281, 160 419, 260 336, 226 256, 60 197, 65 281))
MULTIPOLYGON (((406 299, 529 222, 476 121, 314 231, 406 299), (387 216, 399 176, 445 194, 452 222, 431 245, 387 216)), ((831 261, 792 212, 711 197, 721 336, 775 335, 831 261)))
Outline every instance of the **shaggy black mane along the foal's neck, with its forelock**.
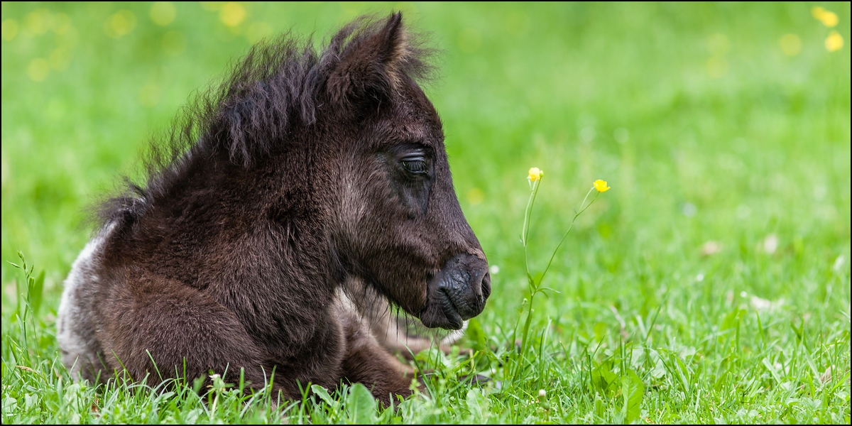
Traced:
MULTIPOLYGON (((400 20, 399 13, 392 16, 400 20)), ((331 72, 384 23, 362 16, 343 26, 321 51, 314 49, 311 37, 301 39, 290 32, 256 43, 225 78, 181 107, 164 135, 152 138, 142 160, 146 184, 125 176, 122 193, 97 208, 98 222, 135 222, 153 198, 186 178, 189 164, 214 161, 213 154, 220 150, 233 164, 250 168, 274 144, 285 143, 289 129, 314 125, 331 72)), ((424 48, 422 38, 406 34, 406 49, 394 60, 394 75, 384 76, 388 88, 402 76, 413 81, 429 77, 434 50, 424 48)))

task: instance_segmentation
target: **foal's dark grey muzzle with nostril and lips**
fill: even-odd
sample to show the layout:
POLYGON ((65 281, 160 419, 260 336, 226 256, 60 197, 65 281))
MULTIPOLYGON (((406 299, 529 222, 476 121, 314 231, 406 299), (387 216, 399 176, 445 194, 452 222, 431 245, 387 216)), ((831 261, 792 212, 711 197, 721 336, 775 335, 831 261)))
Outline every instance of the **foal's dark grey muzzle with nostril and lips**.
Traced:
POLYGON ((485 308, 491 294, 488 263, 468 254, 452 257, 429 281, 427 293, 426 308, 420 314, 423 325, 458 330, 464 320, 485 308))

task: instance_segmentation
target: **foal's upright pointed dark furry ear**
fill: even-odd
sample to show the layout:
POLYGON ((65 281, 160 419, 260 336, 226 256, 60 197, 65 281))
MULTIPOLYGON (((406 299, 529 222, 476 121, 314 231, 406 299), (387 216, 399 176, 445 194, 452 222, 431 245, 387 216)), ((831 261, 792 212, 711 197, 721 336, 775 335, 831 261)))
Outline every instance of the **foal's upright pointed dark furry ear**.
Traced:
POLYGON ((391 14, 378 30, 355 35, 328 78, 331 101, 350 107, 389 98, 400 85, 400 63, 409 55, 402 14, 391 14))

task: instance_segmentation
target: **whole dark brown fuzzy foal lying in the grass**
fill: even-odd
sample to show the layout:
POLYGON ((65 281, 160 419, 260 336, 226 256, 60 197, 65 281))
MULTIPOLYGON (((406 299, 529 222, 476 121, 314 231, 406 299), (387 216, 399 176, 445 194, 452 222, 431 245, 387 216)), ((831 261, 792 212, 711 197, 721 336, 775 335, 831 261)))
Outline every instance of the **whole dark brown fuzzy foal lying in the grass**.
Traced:
POLYGON ((400 14, 310 46, 252 49, 153 143, 147 182, 102 205, 59 310, 73 373, 243 369, 258 387, 275 371, 287 398, 348 381, 387 403, 411 393, 391 307, 445 328, 484 308, 485 256, 416 83, 428 52, 400 14))

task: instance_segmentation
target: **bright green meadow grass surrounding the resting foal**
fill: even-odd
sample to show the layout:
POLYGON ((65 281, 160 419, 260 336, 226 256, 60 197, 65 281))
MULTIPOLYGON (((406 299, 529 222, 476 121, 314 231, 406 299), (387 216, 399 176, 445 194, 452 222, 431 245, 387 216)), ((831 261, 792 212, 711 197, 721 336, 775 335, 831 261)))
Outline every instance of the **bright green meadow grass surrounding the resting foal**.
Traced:
POLYGON ((839 51, 801 3, 244 4, 234 30, 198 3, 167 26, 148 3, 3 3, 3 423, 849 424, 850 17, 820 5, 839 51), (119 9, 135 25, 108 37, 119 9), (499 267, 463 340, 477 354, 421 354, 430 395, 394 410, 357 386, 270 408, 223 387, 204 402, 193 383, 69 381, 55 311, 85 207, 138 176, 147 138, 264 28, 327 35, 391 9, 443 49, 427 91, 499 267), (557 253, 519 356, 532 166, 533 276, 591 182, 612 189, 557 253), (17 250, 32 284, 8 263, 17 250), (34 316, 18 308, 28 285, 34 316), (471 372, 494 381, 459 382, 471 372))

